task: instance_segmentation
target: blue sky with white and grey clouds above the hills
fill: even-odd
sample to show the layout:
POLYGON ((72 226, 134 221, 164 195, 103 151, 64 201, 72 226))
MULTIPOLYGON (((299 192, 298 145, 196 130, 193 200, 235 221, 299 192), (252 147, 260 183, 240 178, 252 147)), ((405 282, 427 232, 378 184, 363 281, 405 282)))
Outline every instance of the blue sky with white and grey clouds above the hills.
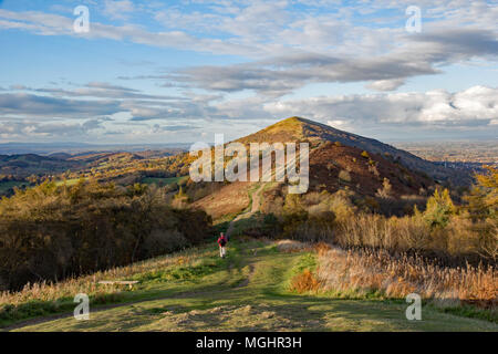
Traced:
POLYGON ((0 0, 0 143, 497 139, 497 63, 498 1, 0 0))

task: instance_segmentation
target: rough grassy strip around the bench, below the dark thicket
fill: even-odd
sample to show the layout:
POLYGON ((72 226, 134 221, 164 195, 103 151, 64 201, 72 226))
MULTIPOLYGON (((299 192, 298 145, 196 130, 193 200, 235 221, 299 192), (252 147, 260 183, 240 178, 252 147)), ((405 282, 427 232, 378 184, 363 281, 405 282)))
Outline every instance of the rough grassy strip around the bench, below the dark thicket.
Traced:
MULTIPOLYGON (((89 294, 92 302, 98 304, 136 301, 155 296, 156 290, 167 290, 175 283, 169 280, 189 280, 199 274, 203 269, 216 269, 210 263, 216 251, 208 248, 193 248, 179 253, 159 257, 153 260, 137 262, 131 266, 96 272, 92 275, 69 279, 60 283, 28 284, 24 290, 15 293, 0 294, 0 325, 38 316, 61 313, 74 309, 73 296, 76 293, 89 294), (205 260, 207 259, 206 263, 205 260), (193 267, 189 267, 195 264, 193 267), (209 266, 208 266, 209 264, 209 266), (189 273, 189 275, 187 275, 189 273), (164 282, 160 282, 160 280, 164 282), (102 285, 101 280, 138 280, 138 285, 132 290, 122 285, 102 285)), ((219 260, 218 260, 219 261, 219 260)), ((190 285, 184 282, 183 285, 190 285)), ((181 287, 177 287, 181 288, 181 287)))

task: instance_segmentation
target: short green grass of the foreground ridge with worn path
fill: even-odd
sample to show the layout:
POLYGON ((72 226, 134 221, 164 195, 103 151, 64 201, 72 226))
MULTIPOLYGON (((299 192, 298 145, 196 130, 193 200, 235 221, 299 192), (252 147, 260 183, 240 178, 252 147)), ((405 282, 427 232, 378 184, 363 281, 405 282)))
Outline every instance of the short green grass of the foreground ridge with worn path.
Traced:
MULTIPOLYGON (((309 252, 280 252, 274 243, 232 241, 228 257, 216 246, 143 262, 114 293, 115 304, 95 304, 90 320, 72 311, 58 317, 11 323, 12 331, 498 331, 498 325, 423 308, 407 321, 407 304, 387 300, 333 299, 290 292, 290 280, 313 266, 309 252)), ((68 299, 66 299, 68 301, 68 299)), ((74 308, 75 304, 72 304, 74 308)))

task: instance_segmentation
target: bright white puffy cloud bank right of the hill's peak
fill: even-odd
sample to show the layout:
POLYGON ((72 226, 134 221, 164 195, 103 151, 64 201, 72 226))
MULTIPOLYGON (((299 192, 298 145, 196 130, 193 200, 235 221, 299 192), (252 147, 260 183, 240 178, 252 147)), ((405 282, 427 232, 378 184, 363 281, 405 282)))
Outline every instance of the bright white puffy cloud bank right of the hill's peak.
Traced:
POLYGON ((321 96, 268 103, 273 115, 300 115, 347 126, 433 126, 461 128, 489 126, 498 119, 498 88, 474 86, 448 93, 390 93, 375 95, 321 96), (344 118, 344 117, 347 117, 344 118))

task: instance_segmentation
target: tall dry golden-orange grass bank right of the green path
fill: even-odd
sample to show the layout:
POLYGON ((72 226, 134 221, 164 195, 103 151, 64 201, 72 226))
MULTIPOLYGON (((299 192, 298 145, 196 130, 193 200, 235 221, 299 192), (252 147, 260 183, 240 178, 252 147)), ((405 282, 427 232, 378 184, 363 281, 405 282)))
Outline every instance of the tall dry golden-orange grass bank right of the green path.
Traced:
POLYGON ((436 302, 497 305, 498 271, 494 267, 447 268, 421 257, 338 248, 320 249, 319 264, 317 278, 325 290, 380 291, 388 298, 417 293, 436 302))

